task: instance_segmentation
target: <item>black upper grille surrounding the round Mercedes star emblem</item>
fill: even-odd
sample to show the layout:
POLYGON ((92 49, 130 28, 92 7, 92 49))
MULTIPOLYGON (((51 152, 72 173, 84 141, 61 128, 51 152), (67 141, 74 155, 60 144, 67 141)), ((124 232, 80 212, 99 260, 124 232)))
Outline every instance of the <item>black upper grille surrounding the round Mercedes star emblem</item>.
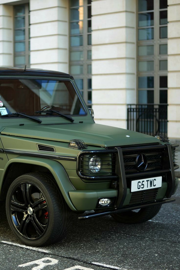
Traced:
POLYGON ((138 154, 144 153, 147 157, 147 168, 145 171, 158 171, 163 170, 163 157, 164 157, 164 150, 152 149, 152 150, 144 150, 144 151, 130 151, 123 153, 123 160, 124 160, 124 168, 125 174, 131 174, 138 172, 136 167, 136 158, 138 154))

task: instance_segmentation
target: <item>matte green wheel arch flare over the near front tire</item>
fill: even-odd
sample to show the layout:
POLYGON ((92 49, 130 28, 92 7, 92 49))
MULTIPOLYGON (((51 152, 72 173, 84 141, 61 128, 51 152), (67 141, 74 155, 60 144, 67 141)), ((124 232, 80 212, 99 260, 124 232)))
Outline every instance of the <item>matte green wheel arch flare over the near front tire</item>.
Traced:
POLYGON ((8 171, 9 166, 12 163, 26 163, 26 164, 32 164, 32 165, 39 165, 39 166, 47 168, 52 173, 53 177, 55 178, 55 180, 59 186, 59 189, 60 189, 67 205, 69 206, 69 208, 73 211, 77 211, 76 208, 74 207, 74 205, 72 204, 72 201, 69 197, 69 191, 75 190, 75 188, 73 187, 72 183, 70 182, 69 177, 68 177, 65 169, 63 168, 63 166, 59 162, 57 162, 55 160, 51 160, 51 159, 36 158, 36 157, 33 157, 33 158, 31 158, 31 157, 16 157, 16 158, 9 160, 5 166, 4 172, 2 174, 0 193, 1 193, 2 183, 4 182, 4 177, 6 175, 6 172, 8 171))

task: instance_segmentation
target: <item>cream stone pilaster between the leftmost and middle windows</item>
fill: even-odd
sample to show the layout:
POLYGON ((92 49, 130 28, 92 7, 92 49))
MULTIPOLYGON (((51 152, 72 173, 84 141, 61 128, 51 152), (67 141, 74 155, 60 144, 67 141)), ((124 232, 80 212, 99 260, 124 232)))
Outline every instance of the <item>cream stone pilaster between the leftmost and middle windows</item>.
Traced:
POLYGON ((69 1, 30 0, 31 68, 69 72, 69 1))

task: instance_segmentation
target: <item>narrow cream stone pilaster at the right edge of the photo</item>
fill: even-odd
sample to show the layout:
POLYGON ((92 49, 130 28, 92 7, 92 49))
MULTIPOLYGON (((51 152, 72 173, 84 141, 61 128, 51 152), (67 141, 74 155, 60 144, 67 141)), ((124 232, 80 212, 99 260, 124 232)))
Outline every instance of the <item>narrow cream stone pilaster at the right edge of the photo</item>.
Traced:
POLYGON ((168 0, 168 137, 180 139, 180 0, 168 0))

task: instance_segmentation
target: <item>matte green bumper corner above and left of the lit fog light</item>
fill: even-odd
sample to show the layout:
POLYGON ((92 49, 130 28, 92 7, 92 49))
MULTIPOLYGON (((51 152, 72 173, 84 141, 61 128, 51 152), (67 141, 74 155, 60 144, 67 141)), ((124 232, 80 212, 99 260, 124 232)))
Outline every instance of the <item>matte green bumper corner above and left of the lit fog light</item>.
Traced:
POLYGON ((117 190, 73 190, 69 191, 69 196, 77 210, 87 211, 96 208, 99 198, 117 197, 117 190))

